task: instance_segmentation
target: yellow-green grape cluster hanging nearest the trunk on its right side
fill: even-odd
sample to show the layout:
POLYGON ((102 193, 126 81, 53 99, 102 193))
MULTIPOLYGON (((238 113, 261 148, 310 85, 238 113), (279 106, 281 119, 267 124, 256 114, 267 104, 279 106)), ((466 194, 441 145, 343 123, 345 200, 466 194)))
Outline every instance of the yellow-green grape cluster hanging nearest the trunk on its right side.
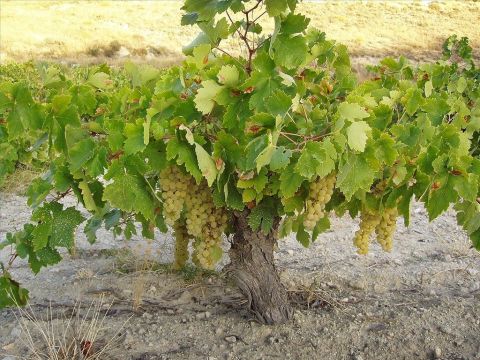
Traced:
POLYGON ((318 220, 325 216, 325 206, 332 198, 335 181, 335 173, 332 172, 323 178, 317 178, 310 184, 303 221, 306 230, 313 230, 318 220))

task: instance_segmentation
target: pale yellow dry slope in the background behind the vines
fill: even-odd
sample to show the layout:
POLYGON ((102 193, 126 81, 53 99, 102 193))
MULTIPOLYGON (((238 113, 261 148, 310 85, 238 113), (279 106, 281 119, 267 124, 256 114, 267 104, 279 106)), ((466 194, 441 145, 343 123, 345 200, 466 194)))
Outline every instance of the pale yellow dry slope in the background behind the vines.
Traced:
MULTIPOLYGON (((180 26, 181 5, 148 0, 1 0, 0 60, 177 62, 182 46, 198 32, 180 26), (110 48, 112 41, 117 43, 110 48)), ((468 36, 475 49, 480 47, 480 2, 322 1, 303 2, 300 11, 312 18, 312 26, 346 44, 354 57, 437 58, 451 34, 468 36)), ((271 23, 262 24, 272 28, 271 23)), ((236 52, 239 43, 231 41, 225 49, 236 52)))

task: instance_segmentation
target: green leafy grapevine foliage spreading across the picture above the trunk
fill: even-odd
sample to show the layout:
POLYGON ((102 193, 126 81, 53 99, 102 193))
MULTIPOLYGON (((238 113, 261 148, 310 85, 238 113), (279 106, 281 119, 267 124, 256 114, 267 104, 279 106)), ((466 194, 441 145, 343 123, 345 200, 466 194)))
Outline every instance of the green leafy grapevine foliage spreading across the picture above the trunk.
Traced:
MULTIPOLYGON (((329 228, 328 217, 304 228, 309 185, 334 174, 328 211, 398 207, 408 223, 413 196, 431 220, 453 205, 480 249, 480 71, 468 41, 449 38, 443 59, 418 67, 384 59, 358 84, 345 46, 308 29, 296 2, 185 1, 182 23, 202 32, 185 62, 163 72, 2 74, 0 181, 18 163, 48 164, 28 190, 32 223, 2 246, 38 272, 83 222, 91 242, 102 224, 126 237, 134 221, 146 236, 166 231, 159 172, 175 163, 208 182, 216 206, 247 212, 252 229, 268 233, 281 220, 281 234, 305 246, 329 228), (254 12, 273 17, 272 34, 254 12), (233 36, 248 40, 243 56, 222 51, 233 36), (87 218, 62 205, 66 194, 87 218)), ((10 304, 1 291, 27 296, 7 270, 0 306, 10 304)))

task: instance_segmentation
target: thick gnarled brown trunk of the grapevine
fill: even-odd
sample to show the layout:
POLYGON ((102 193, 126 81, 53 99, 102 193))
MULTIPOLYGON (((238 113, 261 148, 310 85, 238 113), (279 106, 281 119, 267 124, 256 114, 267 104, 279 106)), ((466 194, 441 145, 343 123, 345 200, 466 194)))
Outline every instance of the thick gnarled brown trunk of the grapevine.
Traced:
POLYGON ((249 309, 264 324, 281 324, 292 317, 285 287, 273 263, 273 249, 280 219, 269 234, 253 231, 248 211, 235 214, 235 234, 230 249, 230 276, 248 297, 249 309))

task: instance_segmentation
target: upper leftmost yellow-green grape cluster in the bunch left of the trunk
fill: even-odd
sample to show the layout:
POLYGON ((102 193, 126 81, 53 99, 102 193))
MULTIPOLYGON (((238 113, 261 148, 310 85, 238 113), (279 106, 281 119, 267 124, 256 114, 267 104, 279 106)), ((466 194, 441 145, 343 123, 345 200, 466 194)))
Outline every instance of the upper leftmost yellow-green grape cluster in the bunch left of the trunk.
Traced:
POLYGON ((193 185, 193 179, 178 166, 168 166, 160 172, 160 186, 163 199, 163 216, 168 225, 180 218, 187 193, 193 185))

